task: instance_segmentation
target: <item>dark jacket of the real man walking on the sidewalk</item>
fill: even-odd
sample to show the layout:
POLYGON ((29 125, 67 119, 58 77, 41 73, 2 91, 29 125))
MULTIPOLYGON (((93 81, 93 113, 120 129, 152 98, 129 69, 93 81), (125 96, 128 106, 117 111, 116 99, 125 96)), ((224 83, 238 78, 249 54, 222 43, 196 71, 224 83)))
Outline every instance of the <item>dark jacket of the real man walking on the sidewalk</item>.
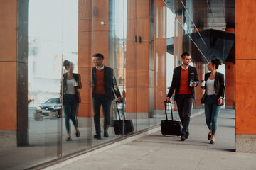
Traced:
MULTIPOLYGON (((174 101, 176 101, 178 98, 178 91, 181 85, 181 69, 182 69, 181 66, 176 67, 174 69, 174 76, 171 81, 171 87, 170 87, 169 93, 167 95, 167 97, 171 98, 175 90, 174 101)), ((188 86, 189 86, 190 80, 196 81, 197 83, 196 86, 198 86, 199 79, 198 79, 196 67, 188 66, 188 86)), ((195 98, 195 87, 191 87, 191 86, 189 87, 191 88, 191 93, 193 94, 193 98, 195 98)))

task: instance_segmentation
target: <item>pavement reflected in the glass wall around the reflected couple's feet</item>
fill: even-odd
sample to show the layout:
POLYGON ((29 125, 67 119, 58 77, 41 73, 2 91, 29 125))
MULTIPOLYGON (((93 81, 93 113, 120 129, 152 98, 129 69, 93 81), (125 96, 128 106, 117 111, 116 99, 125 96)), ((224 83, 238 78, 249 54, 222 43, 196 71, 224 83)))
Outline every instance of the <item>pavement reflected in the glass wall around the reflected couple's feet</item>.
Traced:
MULTIPOLYGON (((95 133, 95 128, 85 127, 79 128, 80 137, 77 138, 75 137, 73 125, 71 125, 73 141, 67 142, 65 141, 66 131, 64 118, 44 118, 42 121, 35 121, 33 119, 35 109, 36 108, 30 108, 28 112, 29 146, 18 148, 0 147, 0 169, 25 169, 36 164, 57 159, 61 154, 65 157, 68 154, 79 152, 83 149, 89 149, 122 137, 114 135, 114 128, 110 127, 110 137, 105 138, 102 135, 102 140, 96 140, 92 137, 95 133), (58 146, 62 146, 62 148, 58 146)), ((165 118, 163 113, 156 114, 157 118, 133 120, 134 132, 144 130, 154 125, 159 125, 161 120, 165 118)), ((177 117, 177 113, 174 113, 174 115, 175 114, 177 117)))

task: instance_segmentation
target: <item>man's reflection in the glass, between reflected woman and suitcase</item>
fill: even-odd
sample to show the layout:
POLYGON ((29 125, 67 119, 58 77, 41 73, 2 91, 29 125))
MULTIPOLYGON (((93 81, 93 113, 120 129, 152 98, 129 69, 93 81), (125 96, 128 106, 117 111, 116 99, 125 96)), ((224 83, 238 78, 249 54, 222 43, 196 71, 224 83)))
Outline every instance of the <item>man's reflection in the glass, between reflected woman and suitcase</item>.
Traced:
POLYGON ((122 101, 121 94, 117 87, 117 81, 114 77, 114 70, 103 64, 104 56, 96 53, 92 56, 92 62, 95 67, 92 67, 92 103, 94 111, 94 123, 96 135, 94 138, 101 139, 100 130, 100 106, 102 106, 104 116, 104 137, 109 137, 107 133, 110 125, 110 106, 112 100, 117 96, 119 101, 122 101))

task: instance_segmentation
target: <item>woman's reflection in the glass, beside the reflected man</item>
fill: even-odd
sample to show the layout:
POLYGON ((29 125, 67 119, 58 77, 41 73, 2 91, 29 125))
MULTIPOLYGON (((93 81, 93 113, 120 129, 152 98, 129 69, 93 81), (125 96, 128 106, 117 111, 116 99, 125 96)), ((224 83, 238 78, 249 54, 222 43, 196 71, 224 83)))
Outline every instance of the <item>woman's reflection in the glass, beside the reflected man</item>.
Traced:
POLYGON ((67 141, 71 140, 70 120, 75 126, 75 136, 80 137, 78 130, 78 103, 80 103, 80 95, 78 89, 82 88, 80 74, 73 73, 74 65, 72 62, 65 60, 63 66, 67 70, 63 74, 63 106, 65 113, 65 127, 67 130, 67 141))

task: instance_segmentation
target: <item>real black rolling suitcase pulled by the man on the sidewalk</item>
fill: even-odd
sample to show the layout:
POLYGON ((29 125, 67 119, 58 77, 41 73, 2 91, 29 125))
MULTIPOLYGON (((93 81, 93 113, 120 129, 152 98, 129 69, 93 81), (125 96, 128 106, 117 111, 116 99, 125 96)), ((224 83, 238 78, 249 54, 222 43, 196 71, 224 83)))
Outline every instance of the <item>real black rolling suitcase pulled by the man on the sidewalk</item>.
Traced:
POLYGON ((164 102, 164 108, 165 108, 165 114, 166 114, 166 120, 161 120, 161 133, 163 135, 181 135, 181 122, 180 121, 174 121, 174 116, 172 113, 171 108, 171 120, 168 120, 167 118, 167 112, 166 112, 166 104, 169 103, 171 106, 171 102, 165 101, 164 102))

